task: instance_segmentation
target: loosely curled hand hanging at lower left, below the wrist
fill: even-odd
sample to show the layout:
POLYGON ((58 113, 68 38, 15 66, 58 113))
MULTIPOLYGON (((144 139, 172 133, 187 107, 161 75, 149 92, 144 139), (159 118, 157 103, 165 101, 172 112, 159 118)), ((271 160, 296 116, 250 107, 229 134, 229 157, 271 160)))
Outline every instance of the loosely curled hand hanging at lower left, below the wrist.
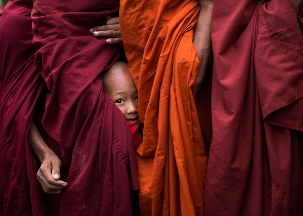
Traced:
POLYGON ((67 182, 59 180, 61 160, 54 152, 44 155, 42 164, 37 172, 37 178, 47 194, 58 194, 67 182))

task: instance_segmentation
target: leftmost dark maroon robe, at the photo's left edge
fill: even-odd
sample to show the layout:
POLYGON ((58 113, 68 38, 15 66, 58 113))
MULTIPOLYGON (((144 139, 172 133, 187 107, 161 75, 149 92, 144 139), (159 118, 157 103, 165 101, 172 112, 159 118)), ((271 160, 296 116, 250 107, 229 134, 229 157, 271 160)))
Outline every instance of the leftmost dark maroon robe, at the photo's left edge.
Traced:
POLYGON ((34 107, 45 85, 34 62, 32 5, 32 0, 10 0, 0 25, 0 215, 47 212, 27 139, 34 107))

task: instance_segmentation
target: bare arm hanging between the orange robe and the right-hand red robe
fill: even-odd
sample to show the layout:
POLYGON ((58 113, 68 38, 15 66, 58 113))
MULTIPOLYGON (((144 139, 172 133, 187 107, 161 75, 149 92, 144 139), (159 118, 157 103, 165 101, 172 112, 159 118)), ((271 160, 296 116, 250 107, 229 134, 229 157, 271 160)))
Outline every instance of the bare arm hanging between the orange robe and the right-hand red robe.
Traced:
POLYGON ((211 1, 200 2, 200 12, 193 37, 193 44, 197 49, 200 61, 197 77, 197 91, 201 87, 212 55, 210 32, 212 6, 213 2, 211 1))

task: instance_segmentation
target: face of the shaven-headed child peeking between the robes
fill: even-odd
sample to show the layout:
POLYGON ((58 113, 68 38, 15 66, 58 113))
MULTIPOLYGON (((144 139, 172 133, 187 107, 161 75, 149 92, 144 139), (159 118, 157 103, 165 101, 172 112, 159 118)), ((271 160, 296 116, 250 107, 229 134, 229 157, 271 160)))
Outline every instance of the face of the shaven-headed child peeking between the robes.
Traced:
POLYGON ((107 82, 105 91, 122 111, 125 119, 135 126, 140 126, 138 91, 130 73, 115 73, 107 82))

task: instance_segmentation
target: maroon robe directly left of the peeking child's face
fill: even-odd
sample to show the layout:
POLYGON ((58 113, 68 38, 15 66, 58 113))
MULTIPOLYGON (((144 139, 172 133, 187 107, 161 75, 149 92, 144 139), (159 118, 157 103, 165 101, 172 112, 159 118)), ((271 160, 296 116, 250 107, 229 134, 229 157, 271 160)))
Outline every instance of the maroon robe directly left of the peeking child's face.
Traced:
POLYGON ((130 189, 138 189, 132 133, 99 76, 123 51, 88 31, 104 25, 118 6, 117 0, 34 0, 35 63, 50 91, 41 122, 46 142, 68 169, 54 214, 132 214, 130 189))

